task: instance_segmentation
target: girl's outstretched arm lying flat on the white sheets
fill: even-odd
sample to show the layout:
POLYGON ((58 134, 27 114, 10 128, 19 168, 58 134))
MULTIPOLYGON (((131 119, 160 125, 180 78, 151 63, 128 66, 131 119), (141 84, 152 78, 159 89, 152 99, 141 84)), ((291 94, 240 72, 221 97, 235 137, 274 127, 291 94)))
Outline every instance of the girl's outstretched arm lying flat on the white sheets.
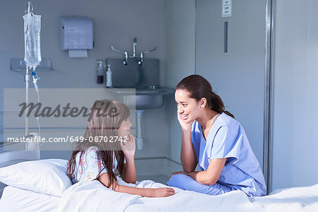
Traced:
MULTIPOLYGON (((110 177, 107 173, 103 173, 100 175, 98 180, 107 187, 108 182, 110 181, 110 177)), ((110 184, 110 189, 115 192, 122 192, 127 194, 141 195, 146 197, 165 197, 172 196, 175 194, 175 190, 172 188, 158 188, 158 189, 143 189, 143 188, 135 188, 135 187, 127 187, 124 185, 119 185, 115 180, 113 180, 113 184, 110 184)))

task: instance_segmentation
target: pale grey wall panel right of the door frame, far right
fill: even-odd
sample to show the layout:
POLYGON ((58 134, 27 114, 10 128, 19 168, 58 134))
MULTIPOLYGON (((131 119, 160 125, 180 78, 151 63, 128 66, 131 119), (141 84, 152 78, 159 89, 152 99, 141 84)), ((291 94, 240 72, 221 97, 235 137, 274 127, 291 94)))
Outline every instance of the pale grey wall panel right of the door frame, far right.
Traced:
POLYGON ((318 182, 317 7, 275 4, 272 189, 318 182))

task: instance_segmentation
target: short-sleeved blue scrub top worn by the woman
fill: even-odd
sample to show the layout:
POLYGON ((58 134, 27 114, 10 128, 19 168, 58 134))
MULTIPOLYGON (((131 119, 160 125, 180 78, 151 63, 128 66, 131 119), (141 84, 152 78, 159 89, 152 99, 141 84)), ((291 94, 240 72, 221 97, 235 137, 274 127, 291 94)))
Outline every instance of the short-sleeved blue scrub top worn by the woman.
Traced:
POLYGON ((211 159, 228 158, 217 183, 242 190, 248 196, 264 196, 266 184, 242 125, 224 112, 204 139, 199 122, 192 124, 192 143, 201 170, 211 159))

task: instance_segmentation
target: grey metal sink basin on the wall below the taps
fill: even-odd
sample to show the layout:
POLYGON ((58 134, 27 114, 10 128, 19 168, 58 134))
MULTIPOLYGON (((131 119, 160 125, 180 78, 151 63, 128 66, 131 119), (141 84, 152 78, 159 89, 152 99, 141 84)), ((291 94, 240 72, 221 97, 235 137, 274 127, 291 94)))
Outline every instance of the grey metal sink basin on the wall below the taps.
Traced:
POLYGON ((175 93, 174 89, 162 86, 114 86, 111 89, 124 98, 124 104, 136 110, 155 109, 163 106, 165 95, 175 93))

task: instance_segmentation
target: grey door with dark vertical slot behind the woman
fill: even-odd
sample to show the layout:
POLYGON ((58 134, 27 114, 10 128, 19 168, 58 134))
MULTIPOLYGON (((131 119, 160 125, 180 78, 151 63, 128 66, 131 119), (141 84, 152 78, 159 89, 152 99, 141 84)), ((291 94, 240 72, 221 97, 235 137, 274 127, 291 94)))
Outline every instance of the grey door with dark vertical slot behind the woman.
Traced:
POLYGON ((242 124, 262 167, 266 1, 232 1, 230 18, 222 18, 221 4, 196 1, 196 73, 208 79, 225 110, 242 124), (225 20, 228 54, 223 53, 225 20))

